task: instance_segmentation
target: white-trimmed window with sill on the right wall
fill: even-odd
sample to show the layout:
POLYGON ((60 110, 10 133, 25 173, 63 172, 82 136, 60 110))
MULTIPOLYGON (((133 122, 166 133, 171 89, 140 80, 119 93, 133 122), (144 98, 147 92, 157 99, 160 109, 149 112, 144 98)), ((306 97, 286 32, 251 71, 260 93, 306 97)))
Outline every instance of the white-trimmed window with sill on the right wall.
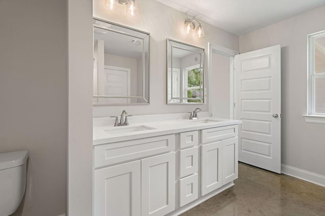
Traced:
POLYGON ((307 122, 325 123, 325 31, 308 35, 308 115, 304 116, 307 122))

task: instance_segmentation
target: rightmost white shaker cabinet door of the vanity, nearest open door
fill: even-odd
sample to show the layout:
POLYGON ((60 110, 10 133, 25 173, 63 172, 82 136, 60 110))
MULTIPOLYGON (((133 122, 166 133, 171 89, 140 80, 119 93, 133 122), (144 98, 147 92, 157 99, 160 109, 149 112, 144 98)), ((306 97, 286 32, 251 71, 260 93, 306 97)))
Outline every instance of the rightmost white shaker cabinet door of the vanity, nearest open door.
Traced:
POLYGON ((222 141, 222 185, 238 178, 238 137, 222 141))

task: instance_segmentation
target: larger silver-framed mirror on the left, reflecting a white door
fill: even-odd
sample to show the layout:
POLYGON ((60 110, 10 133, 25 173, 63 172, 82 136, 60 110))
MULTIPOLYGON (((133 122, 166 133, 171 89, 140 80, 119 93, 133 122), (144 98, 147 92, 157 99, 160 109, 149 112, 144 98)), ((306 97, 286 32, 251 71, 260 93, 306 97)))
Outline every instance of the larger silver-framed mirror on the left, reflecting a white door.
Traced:
POLYGON ((148 32, 93 19, 93 104, 149 104, 148 32))

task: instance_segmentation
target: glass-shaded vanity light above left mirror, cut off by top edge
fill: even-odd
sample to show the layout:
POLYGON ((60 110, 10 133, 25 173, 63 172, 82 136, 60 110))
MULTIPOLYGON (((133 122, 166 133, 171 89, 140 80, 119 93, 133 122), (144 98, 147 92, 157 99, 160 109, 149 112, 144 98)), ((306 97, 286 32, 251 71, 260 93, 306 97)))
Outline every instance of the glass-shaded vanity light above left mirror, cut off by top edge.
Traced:
POLYGON ((136 0, 98 0, 106 10, 115 11, 119 5, 126 5, 126 13, 131 16, 138 14, 136 0))

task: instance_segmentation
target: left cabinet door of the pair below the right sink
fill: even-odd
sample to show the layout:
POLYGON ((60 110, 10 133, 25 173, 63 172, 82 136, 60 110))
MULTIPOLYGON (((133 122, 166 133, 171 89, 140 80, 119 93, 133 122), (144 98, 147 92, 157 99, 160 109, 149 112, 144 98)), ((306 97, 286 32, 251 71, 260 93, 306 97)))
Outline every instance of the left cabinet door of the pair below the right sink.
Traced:
POLYGON ((222 186, 222 141, 202 146, 201 195, 206 195, 222 186))

